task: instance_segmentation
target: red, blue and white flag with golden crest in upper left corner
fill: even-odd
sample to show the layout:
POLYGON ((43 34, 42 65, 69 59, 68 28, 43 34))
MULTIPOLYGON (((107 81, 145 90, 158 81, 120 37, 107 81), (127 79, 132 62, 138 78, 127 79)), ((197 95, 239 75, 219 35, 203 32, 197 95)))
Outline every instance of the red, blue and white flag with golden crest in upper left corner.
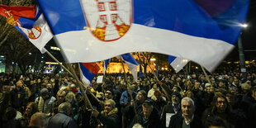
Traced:
POLYGON ((26 36, 41 53, 45 53, 44 47, 53 35, 39 7, 9 7, 0 5, 0 15, 6 17, 7 22, 26 36))

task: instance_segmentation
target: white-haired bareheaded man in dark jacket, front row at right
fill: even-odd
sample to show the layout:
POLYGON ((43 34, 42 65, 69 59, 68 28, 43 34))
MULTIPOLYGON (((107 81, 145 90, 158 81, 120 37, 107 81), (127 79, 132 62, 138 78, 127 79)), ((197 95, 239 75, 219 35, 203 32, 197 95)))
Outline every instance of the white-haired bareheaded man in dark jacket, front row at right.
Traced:
POLYGON ((194 115, 196 110, 195 104, 190 97, 183 97, 182 99, 182 112, 171 117, 169 128, 200 128, 201 120, 194 115))

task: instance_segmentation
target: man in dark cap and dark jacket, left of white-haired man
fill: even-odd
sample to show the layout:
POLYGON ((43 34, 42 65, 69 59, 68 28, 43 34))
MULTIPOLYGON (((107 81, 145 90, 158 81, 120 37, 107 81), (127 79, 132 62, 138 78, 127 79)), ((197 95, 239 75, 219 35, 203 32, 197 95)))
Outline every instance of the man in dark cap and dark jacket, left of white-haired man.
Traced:
POLYGON ((145 100, 145 102, 142 104, 142 111, 135 115, 130 127, 137 123, 144 128, 163 127, 162 123, 160 122, 159 111, 155 109, 154 106, 155 105, 152 100, 145 100))

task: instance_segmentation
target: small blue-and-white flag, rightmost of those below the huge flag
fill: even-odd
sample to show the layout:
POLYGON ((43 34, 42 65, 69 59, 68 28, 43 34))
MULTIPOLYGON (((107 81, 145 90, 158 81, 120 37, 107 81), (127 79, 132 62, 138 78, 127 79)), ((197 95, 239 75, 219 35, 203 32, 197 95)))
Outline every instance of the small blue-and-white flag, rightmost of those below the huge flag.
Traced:
POLYGON ((183 67, 187 64, 189 60, 179 58, 179 57, 174 57, 172 55, 168 56, 168 63, 173 67, 176 73, 178 73, 183 67))

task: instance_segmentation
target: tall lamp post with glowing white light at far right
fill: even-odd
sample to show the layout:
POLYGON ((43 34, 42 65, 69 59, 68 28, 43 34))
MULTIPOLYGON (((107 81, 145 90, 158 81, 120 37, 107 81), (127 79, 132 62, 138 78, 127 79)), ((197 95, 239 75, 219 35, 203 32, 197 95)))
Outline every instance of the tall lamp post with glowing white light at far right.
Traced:
MULTIPOLYGON (((248 25, 243 24, 241 26, 246 28, 248 25)), ((242 33, 240 34, 239 40, 238 40, 238 50, 239 50, 239 62, 240 62, 242 78, 247 79, 247 73, 246 73, 246 68, 245 68, 245 59, 244 59, 244 49, 243 49, 243 45, 242 45, 242 33)))

